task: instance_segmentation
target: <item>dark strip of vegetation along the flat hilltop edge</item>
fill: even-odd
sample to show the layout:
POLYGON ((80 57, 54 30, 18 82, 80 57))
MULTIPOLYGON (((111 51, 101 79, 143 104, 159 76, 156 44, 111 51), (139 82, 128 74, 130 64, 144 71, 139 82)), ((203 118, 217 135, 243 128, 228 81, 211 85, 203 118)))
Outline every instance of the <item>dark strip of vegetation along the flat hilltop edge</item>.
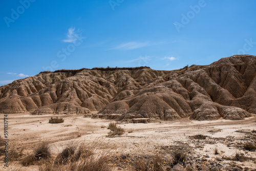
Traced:
POLYGON ((78 72, 81 72, 83 70, 99 70, 99 71, 115 71, 115 70, 138 70, 138 69, 144 69, 144 68, 148 68, 150 69, 150 67, 123 67, 123 68, 92 68, 92 69, 88 69, 88 68, 82 68, 82 69, 79 69, 79 70, 65 70, 65 69, 62 69, 62 70, 56 70, 56 71, 42 71, 40 72, 39 74, 47 74, 47 73, 59 73, 59 72, 75 72, 75 73, 78 73, 78 72))

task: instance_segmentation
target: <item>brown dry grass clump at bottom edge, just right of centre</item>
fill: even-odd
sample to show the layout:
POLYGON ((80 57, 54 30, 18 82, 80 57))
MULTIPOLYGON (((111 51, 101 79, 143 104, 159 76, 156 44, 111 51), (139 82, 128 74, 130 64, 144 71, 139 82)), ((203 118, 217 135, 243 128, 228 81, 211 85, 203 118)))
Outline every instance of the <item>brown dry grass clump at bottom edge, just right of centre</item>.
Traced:
POLYGON ((163 171, 163 170, 165 170, 163 163, 164 163, 163 156, 156 153, 151 158, 146 159, 144 157, 140 157, 133 165, 134 165, 135 170, 163 171))

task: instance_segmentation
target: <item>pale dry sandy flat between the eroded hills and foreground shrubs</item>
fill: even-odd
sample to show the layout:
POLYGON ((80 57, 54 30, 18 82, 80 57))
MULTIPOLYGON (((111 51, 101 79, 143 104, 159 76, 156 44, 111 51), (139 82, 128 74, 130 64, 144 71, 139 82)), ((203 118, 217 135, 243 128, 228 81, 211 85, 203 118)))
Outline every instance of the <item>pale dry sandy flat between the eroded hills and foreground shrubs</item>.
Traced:
MULTIPOLYGON (((1 116, 3 117, 3 114, 1 116)), ((207 156, 208 160, 215 160, 223 156, 232 157, 236 152, 247 153, 247 156, 252 160, 232 162, 243 168, 248 167, 248 170, 256 168, 256 163, 253 162, 256 159, 256 152, 244 151, 241 145, 244 143, 243 139, 247 135, 246 133, 256 130, 256 115, 238 121, 223 119, 193 121, 186 118, 170 122, 126 123, 120 124, 126 130, 125 134, 114 138, 107 137, 109 132, 107 127, 112 120, 91 119, 82 115, 58 115, 58 117, 65 118, 65 122, 50 124, 48 121, 52 116, 8 114, 9 147, 25 148, 24 154, 27 155, 32 153, 33 148, 39 141, 47 139, 52 142, 51 150, 56 155, 71 142, 91 143, 97 141, 98 148, 111 149, 119 154, 135 155, 155 152, 160 147, 175 145, 177 141, 180 141, 193 147, 193 153, 199 157, 207 156), (134 129, 134 132, 127 133, 128 129, 134 129), (236 132, 238 130, 240 131, 236 132), (209 137, 206 140, 189 137, 198 134, 209 137), (220 151, 219 155, 214 154, 216 147, 220 151)), ((0 124, 1 135, 3 125, 2 118, 0 124)), ((225 162, 230 163, 230 161, 222 161, 222 164, 225 165, 225 162)), ((38 166, 30 166, 26 170, 38 170, 38 166)))

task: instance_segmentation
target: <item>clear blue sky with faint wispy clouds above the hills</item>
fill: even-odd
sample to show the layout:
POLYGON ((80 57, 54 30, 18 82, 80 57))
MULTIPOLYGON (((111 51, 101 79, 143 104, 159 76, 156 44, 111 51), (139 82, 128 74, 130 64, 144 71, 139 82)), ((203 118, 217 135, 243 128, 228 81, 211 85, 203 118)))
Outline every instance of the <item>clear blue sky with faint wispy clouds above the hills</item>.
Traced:
POLYGON ((1 1, 0 86, 44 70, 175 70, 256 55, 256 1, 1 1))

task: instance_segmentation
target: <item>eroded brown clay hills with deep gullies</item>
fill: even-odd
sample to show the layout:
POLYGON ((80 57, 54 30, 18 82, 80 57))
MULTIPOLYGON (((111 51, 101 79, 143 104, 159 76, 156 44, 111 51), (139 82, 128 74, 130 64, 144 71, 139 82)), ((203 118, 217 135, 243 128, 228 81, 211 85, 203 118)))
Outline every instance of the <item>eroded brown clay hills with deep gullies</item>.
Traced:
POLYGON ((256 113, 256 56, 234 55, 174 71, 45 71, 0 87, 0 113, 89 114, 126 120, 243 119, 256 113))

